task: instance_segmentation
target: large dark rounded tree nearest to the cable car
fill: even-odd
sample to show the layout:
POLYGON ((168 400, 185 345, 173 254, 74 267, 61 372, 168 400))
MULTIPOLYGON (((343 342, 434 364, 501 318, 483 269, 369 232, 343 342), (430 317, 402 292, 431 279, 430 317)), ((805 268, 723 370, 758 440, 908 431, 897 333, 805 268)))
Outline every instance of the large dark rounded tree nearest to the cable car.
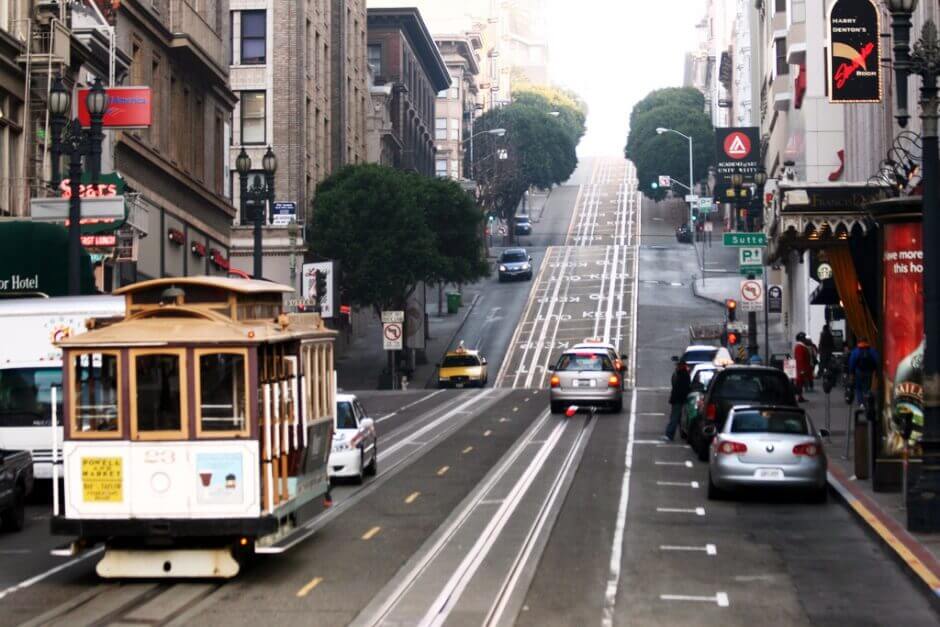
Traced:
POLYGON ((441 263, 413 176, 352 165, 317 187, 307 241, 317 255, 339 261, 340 284, 354 305, 404 309, 441 263))

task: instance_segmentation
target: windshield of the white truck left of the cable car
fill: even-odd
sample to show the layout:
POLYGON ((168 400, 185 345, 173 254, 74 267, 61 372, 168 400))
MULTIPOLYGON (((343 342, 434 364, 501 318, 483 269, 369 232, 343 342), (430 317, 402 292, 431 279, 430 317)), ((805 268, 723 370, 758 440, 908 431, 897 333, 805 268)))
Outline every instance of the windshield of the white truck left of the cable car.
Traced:
POLYGON ((61 368, 0 370, 0 427, 51 425, 53 386, 59 388, 56 411, 61 420, 61 368))

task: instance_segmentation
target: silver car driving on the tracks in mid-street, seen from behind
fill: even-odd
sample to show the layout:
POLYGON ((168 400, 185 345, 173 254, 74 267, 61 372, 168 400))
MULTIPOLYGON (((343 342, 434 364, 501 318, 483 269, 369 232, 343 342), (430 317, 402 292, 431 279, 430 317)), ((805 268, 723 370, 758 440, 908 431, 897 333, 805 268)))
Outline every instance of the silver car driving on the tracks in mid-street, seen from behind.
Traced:
POLYGON ((571 405, 623 409, 622 377, 613 360, 596 350, 567 350, 549 367, 549 402, 552 413, 571 405))

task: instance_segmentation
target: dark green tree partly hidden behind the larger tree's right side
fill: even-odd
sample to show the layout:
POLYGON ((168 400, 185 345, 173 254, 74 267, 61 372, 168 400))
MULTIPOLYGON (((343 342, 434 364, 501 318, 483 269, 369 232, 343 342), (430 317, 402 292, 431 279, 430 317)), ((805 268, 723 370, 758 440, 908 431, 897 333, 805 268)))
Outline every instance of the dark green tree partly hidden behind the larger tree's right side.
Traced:
POLYGON ((438 263, 428 269, 426 280, 462 284, 489 276, 483 256, 483 213, 473 197, 450 179, 411 177, 437 244, 438 263))

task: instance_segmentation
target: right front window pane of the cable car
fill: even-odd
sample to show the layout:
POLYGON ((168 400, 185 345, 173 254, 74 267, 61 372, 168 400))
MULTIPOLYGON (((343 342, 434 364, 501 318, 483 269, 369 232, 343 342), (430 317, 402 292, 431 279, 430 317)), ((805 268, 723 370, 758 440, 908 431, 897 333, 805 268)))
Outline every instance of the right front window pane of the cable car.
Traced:
POLYGON ((199 363, 197 433, 248 434, 244 353, 196 353, 199 363))

